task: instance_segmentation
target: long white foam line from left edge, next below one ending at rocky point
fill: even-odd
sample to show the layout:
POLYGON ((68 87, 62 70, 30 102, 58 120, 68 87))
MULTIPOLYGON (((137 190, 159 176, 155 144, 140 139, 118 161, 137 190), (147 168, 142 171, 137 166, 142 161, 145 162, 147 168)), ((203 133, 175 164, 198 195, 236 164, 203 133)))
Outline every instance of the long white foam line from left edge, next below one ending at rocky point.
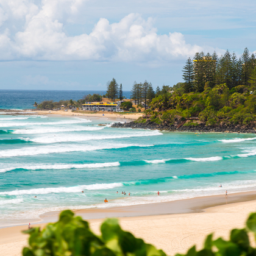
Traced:
POLYGON ((53 154, 53 153, 65 153, 65 152, 77 152, 77 151, 96 151, 101 149, 117 149, 117 148, 128 148, 132 146, 137 147, 148 147, 152 145, 138 145, 138 144, 99 144, 98 146, 94 145, 56 145, 56 146, 35 146, 27 147, 23 149, 7 149, 0 151, 0 157, 18 157, 26 155, 40 155, 40 154, 53 154))

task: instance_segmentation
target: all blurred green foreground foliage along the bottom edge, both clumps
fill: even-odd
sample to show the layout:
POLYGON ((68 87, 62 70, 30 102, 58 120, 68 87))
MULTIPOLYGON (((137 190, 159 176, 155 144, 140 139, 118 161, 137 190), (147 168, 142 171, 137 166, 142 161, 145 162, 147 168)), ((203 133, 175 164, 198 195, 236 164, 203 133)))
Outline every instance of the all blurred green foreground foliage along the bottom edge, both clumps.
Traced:
MULTIPOLYGON (((74 213, 65 210, 60 213, 59 221, 48 224, 45 229, 29 229, 29 246, 23 248, 23 256, 165 256, 152 244, 146 244, 135 238, 130 232, 121 229, 117 219, 107 219, 101 225, 101 235, 95 235, 87 221, 74 217, 74 213)), ((206 237, 204 247, 197 251, 191 247, 187 254, 176 256, 252 256, 256 248, 249 240, 250 233, 256 238, 256 213, 251 213, 246 228, 233 229, 229 240, 213 234, 206 237)))

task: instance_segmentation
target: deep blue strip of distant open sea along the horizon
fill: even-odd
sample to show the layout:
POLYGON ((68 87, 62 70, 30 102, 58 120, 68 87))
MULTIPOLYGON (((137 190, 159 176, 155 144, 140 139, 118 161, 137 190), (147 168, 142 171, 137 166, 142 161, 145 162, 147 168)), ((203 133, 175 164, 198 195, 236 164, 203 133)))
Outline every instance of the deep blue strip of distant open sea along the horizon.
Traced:
MULTIPOLYGON (((87 94, 105 94, 106 91, 60 91, 60 90, 0 90, 0 109, 35 108, 34 103, 42 101, 77 101, 87 94)), ((130 98, 130 91, 123 91, 123 96, 130 98)))

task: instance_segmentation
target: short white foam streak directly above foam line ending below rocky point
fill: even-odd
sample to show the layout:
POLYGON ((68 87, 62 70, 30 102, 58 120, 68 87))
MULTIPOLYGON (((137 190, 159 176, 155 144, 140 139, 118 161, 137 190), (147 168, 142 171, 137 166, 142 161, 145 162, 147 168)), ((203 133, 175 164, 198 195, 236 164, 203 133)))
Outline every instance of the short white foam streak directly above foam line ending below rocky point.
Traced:
POLYGON ((38 134, 38 133, 59 133, 59 132, 81 132, 85 130, 102 130, 105 127, 98 126, 77 126, 77 127, 46 127, 44 129, 19 129, 15 134, 38 134))

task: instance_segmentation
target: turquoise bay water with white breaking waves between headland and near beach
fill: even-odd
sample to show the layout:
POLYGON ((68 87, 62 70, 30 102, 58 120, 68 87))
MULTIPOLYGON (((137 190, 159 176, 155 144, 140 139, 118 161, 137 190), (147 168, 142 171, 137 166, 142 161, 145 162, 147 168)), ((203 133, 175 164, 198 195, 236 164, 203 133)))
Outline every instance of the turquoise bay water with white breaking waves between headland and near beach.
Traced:
POLYGON ((255 135, 98 126, 112 122, 0 115, 0 225, 256 188, 255 135))

